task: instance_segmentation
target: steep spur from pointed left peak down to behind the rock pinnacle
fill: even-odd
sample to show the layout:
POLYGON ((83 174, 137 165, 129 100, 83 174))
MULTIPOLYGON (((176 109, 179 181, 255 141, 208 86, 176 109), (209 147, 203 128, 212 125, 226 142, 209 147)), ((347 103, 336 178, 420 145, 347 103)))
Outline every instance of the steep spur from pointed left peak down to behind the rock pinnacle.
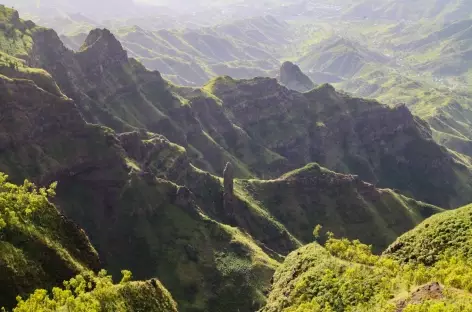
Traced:
POLYGON ((243 177, 277 166, 279 174, 285 169, 284 159, 252 142, 228 120, 214 97, 182 90, 188 97, 183 99, 176 94, 179 88, 158 72, 128 59, 107 30, 92 31, 77 53, 67 50, 54 32, 38 31, 31 55, 31 64, 51 73, 88 122, 117 132, 161 133, 187 148, 194 162, 212 173, 222 172, 228 161, 243 177))

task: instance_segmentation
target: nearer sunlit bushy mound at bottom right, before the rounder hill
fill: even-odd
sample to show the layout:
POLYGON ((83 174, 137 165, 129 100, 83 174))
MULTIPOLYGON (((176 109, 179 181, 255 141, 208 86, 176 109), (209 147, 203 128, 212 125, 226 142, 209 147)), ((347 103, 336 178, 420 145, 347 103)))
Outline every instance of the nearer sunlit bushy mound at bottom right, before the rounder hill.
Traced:
POLYGON ((471 274, 460 258, 404 265, 329 236, 325 248, 314 243, 287 257, 262 311, 468 311, 471 274))

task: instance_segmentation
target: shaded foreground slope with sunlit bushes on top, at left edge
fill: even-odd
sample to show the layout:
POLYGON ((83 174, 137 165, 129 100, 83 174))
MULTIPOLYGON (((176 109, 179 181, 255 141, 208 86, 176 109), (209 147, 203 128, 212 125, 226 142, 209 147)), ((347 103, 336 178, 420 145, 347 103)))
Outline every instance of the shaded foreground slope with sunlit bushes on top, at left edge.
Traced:
POLYGON ((53 188, 16 186, 0 174, 0 307, 100 268, 85 233, 48 201, 53 195, 53 188))

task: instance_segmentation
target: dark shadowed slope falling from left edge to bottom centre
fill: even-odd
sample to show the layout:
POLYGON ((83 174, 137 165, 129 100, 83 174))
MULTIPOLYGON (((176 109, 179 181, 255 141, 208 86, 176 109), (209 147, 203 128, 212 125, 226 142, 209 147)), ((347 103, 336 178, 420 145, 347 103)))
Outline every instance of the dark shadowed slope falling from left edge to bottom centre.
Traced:
MULTIPOLYGON (((182 311, 261 305, 276 262, 249 235, 206 216, 186 187, 156 177, 159 172, 164 177, 166 166, 169 173, 173 165, 174 172, 185 172, 185 162, 180 163, 185 158, 177 157, 181 147, 162 137, 145 143, 138 136, 133 150, 128 136, 130 153, 144 155, 140 163, 121 147, 126 136, 118 138, 109 129, 86 124, 71 100, 29 80, 3 80, 0 132, 1 145, 8 148, 0 153, 1 170, 14 180, 28 176, 41 184, 58 181, 56 203, 87 230, 105 267, 114 274, 129 268, 139 279, 159 277, 174 291, 182 311), (250 276, 258 278, 252 281, 250 276), (237 297, 247 300, 235 301, 237 297)), ((207 192, 218 197, 217 179, 194 174, 213 183, 207 192)), ((213 215, 225 216, 218 205, 213 215)), ((251 224, 251 215, 258 218, 252 222, 265 225, 265 235, 271 235, 271 228, 278 235, 271 247, 284 240, 286 248, 295 246, 264 217, 248 211, 241 218, 251 224)))

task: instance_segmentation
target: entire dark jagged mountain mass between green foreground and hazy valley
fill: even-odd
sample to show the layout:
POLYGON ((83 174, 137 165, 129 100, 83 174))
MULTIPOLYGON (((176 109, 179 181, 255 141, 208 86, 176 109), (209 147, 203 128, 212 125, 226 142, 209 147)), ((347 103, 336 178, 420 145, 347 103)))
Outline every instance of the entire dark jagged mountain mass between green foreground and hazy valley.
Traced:
POLYGON ((405 107, 270 78, 177 87, 108 30, 73 52, 2 12, 0 171, 57 181, 54 203, 103 267, 158 278, 180 311, 261 308, 283 256, 320 221, 381 249, 441 211, 362 180, 447 208, 469 200, 469 169, 405 107), (344 174, 303 167, 313 161, 344 174))

